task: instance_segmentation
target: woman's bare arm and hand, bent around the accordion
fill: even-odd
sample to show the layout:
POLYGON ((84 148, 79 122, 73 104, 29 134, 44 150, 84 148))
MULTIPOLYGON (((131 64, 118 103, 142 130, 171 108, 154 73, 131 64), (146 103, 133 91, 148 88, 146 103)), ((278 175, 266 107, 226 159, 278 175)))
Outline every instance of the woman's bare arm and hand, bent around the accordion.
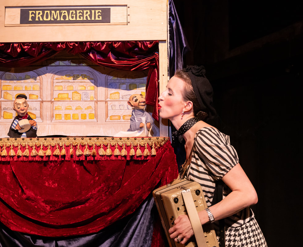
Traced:
MULTIPOLYGON (((221 202, 209 207, 215 220, 220 220, 258 202, 257 193, 249 178, 238 163, 222 178, 223 182, 232 190, 221 202)), ((198 213, 201 224, 209 222, 205 210, 198 213)), ((193 229, 187 215, 180 215, 175 220, 175 225, 169 229, 171 238, 179 237, 185 244, 191 236, 193 229)))

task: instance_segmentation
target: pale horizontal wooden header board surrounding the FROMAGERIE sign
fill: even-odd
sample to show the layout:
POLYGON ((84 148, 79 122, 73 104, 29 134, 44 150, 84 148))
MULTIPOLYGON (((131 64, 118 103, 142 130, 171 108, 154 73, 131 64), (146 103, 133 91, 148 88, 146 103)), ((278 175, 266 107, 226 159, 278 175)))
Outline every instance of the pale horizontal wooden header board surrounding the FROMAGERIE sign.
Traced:
MULTIPOLYGON (((0 42, 60 42, 60 41, 114 41, 114 40, 166 40, 167 39, 167 1, 166 0, 2 0, 0 3, 0 42), (83 5, 85 2, 85 5, 83 5), (50 5, 51 3, 51 5, 50 5), (111 5, 108 5, 108 4, 111 5), (125 11, 116 12, 115 23, 52 25, 52 26, 18 26, 10 27, 16 22, 16 13, 5 13, 5 7, 26 6, 127 6, 125 11), (5 19, 8 18, 8 19, 5 19), (121 25, 125 23, 126 25, 121 25)), ((116 6, 116 7, 114 7, 116 6)), ((12 9, 8 10, 12 11, 12 9)))

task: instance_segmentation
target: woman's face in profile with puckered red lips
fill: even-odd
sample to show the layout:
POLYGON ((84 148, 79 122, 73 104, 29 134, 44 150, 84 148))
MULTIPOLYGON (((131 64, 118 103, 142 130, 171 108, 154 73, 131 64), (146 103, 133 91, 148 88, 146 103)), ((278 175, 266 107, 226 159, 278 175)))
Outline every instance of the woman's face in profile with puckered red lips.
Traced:
POLYGON ((172 120, 178 116, 181 119, 182 110, 186 105, 182 95, 184 83, 183 80, 175 76, 169 80, 166 90, 158 98, 160 117, 172 120))

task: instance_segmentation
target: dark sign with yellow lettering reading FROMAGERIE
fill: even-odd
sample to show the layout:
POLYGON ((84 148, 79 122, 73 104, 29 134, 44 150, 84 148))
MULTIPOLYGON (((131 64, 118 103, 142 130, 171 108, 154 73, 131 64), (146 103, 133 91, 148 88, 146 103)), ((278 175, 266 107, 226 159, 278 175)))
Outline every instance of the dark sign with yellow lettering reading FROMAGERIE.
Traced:
POLYGON ((20 24, 38 23, 110 23, 110 7, 20 9, 20 24))

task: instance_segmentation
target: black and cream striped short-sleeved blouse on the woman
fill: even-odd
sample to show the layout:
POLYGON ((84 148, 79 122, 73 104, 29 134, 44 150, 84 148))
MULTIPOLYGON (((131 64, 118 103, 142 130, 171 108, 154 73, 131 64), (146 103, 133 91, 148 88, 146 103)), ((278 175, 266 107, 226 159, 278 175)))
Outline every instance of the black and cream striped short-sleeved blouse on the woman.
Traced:
MULTIPOLYGON (((204 192, 206 204, 210 207, 215 190, 215 181, 221 179, 231 168, 239 163, 236 150, 230 145, 229 136, 215 128, 201 128, 194 141, 191 164, 186 178, 198 182, 204 192)), ((223 198, 231 192, 224 184, 223 198)), ((249 207, 225 219, 226 227, 245 224, 254 216, 249 207)), ((218 226, 215 222, 215 226, 218 226)))

